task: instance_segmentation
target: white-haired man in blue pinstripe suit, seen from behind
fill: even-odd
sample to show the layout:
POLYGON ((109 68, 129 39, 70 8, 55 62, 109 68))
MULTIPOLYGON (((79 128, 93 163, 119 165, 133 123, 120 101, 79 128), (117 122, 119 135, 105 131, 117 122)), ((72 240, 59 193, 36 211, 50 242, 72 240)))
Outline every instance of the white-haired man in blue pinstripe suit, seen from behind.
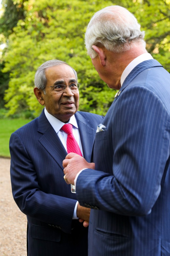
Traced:
POLYGON ((63 161, 80 205, 91 208, 89 256, 170 255, 170 74, 144 34, 128 10, 109 6, 85 35, 101 79, 119 90, 98 125, 94 163, 74 153, 63 161))

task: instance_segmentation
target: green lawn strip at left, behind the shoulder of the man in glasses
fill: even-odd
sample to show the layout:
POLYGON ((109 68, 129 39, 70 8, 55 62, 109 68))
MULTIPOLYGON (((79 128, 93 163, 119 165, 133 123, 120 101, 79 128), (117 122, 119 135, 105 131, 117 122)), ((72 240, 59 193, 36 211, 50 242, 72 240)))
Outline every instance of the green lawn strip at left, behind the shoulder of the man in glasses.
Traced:
POLYGON ((30 119, 0 119, 0 156, 10 157, 9 139, 11 133, 16 131, 19 127, 29 123, 30 119))

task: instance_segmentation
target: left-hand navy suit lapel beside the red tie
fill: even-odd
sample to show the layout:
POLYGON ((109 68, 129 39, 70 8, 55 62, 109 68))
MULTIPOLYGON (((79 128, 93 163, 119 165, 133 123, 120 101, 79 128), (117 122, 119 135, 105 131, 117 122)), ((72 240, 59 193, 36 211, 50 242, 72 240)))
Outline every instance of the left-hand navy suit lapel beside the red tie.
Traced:
POLYGON ((44 110, 42 111, 38 121, 38 131, 43 133, 39 138, 40 143, 45 147, 49 154, 55 159, 55 161, 63 169, 62 161, 65 159, 67 152, 63 147, 58 135, 54 131, 53 127, 48 122, 44 110))

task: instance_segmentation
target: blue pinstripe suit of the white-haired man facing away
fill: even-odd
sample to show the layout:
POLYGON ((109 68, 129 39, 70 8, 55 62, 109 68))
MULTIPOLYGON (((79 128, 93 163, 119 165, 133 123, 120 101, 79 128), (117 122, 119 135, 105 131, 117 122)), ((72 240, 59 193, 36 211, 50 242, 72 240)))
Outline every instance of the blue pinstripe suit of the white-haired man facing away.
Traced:
POLYGON ((169 256, 170 74, 144 61, 120 91, 96 133, 96 170, 76 183, 92 208, 89 256, 169 256))

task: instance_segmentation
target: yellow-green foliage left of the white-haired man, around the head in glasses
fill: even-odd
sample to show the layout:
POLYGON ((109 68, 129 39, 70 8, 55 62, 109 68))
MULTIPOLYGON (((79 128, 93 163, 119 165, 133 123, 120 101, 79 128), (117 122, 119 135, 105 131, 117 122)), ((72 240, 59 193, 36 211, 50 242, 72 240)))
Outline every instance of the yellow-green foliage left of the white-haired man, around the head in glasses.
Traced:
POLYGON ((41 0, 24 5, 27 15, 14 27, 5 59, 4 71, 10 71, 11 76, 5 95, 8 114, 28 107, 36 110, 35 115, 39 114, 42 107, 33 95, 34 74, 36 68, 49 59, 66 61, 77 71, 82 83, 79 110, 104 113, 115 91, 108 91, 93 68, 84 47, 84 32, 92 13, 107 4, 103 1, 41 0))

